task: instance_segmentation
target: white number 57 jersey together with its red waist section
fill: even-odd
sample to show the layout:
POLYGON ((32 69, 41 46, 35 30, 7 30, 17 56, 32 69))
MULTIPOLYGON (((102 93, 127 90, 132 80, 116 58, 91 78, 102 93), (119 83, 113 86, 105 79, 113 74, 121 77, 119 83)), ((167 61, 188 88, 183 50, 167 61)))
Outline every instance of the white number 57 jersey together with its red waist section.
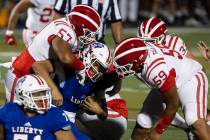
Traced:
POLYGON ((13 70, 16 71, 15 73, 19 75, 29 74, 29 70, 35 61, 47 60, 49 58, 51 41, 55 36, 68 42, 70 44, 69 49, 77 45, 76 33, 67 19, 54 20, 43 28, 34 37, 31 45, 15 59, 12 64, 13 70))

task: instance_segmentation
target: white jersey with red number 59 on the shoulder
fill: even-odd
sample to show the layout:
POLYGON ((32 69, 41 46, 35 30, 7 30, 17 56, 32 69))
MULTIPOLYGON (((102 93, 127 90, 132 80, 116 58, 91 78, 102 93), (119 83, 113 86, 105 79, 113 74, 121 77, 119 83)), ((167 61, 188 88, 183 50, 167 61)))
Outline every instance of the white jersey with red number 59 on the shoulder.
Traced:
POLYGON ((202 70, 198 62, 183 57, 174 50, 159 49, 151 43, 147 44, 148 57, 144 69, 136 76, 152 88, 162 88, 171 71, 175 72, 175 84, 179 88, 202 70))

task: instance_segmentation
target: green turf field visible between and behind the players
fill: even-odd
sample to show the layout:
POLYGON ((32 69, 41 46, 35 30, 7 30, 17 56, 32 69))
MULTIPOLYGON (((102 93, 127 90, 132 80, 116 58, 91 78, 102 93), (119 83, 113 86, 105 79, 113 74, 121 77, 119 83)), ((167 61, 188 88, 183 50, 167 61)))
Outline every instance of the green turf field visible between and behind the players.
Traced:
MULTIPOLYGON (((170 29, 169 29, 170 30, 170 29)), ((186 42, 186 45, 189 47, 189 50, 192 51, 193 54, 199 57, 198 50, 196 49, 196 43, 199 40, 203 40, 206 43, 210 45, 210 29, 173 29, 173 32, 177 32, 177 35, 180 35, 184 41, 186 42)), ((134 36, 135 31, 132 30, 126 30, 125 31, 125 37, 126 36, 134 36)), ((21 41, 21 32, 17 33, 18 36, 18 47, 11 47, 6 46, 3 41, 3 31, 0 31, 0 62, 5 62, 10 59, 10 55, 12 53, 18 53, 20 52, 24 47, 23 43, 21 41), (10 53, 8 53, 10 52, 10 53)), ((108 33, 106 42, 108 46, 114 47, 113 40, 111 39, 112 36, 110 33, 108 33)), ((206 68, 206 72, 208 74, 208 77, 210 77, 210 64, 207 62, 204 62, 202 58, 199 57, 200 62, 204 65, 206 68)), ((3 76, 5 73, 5 69, 0 68, 1 72, 1 81, 0 81, 0 104, 3 104, 4 101, 4 89, 3 89, 3 76)), ((135 125, 135 118, 136 114, 138 113, 141 104, 146 97, 148 92, 148 88, 144 86, 142 83, 137 81, 134 77, 130 77, 123 81, 123 88, 121 91, 121 95, 124 99, 127 101, 127 107, 129 110, 129 121, 128 121, 128 130, 124 134, 122 140, 128 140, 130 137, 130 134, 132 132, 133 126, 135 125)), ((210 105, 209 105, 210 107, 210 105)), ((186 135, 183 131, 178 130, 174 127, 170 127, 164 136, 162 137, 163 140, 186 140, 186 135)))

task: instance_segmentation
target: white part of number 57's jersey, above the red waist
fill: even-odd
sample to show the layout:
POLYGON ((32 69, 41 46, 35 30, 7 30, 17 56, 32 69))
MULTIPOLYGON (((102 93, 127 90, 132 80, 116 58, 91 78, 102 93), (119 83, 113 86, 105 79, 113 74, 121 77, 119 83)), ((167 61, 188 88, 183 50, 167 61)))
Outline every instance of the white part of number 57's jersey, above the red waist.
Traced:
POLYGON ((32 44, 28 47, 29 53, 36 61, 48 59, 51 46, 50 38, 54 35, 68 42, 71 48, 75 48, 77 45, 76 34, 66 18, 54 20, 37 34, 32 44))

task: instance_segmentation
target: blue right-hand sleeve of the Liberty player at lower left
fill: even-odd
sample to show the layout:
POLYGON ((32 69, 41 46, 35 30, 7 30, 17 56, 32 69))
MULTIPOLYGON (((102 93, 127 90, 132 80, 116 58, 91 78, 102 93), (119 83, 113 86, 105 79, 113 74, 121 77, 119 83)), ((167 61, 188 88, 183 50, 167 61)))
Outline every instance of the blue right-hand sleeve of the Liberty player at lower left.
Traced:
POLYGON ((70 130, 71 123, 65 114, 65 112, 59 108, 53 107, 53 112, 51 112, 51 121, 49 123, 50 130, 55 133, 59 130, 70 130))

